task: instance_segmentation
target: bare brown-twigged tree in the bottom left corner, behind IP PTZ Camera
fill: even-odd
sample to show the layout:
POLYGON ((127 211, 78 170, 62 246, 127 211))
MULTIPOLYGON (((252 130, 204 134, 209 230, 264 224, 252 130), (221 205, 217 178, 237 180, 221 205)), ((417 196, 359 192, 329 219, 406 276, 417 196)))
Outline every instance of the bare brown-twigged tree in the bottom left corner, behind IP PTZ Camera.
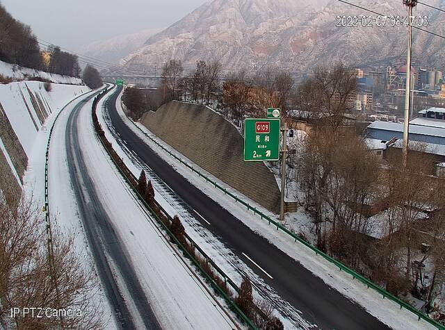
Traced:
POLYGON ((14 208, 0 201, 0 324, 6 329, 101 329, 95 273, 79 260, 74 236, 63 235, 55 226, 54 267, 49 267, 40 214, 29 201, 21 200, 14 208), (42 308, 45 317, 24 313, 10 317, 11 308, 25 307, 42 308), (52 317, 46 317, 47 308, 52 317), (54 314, 60 309, 73 313, 54 314))

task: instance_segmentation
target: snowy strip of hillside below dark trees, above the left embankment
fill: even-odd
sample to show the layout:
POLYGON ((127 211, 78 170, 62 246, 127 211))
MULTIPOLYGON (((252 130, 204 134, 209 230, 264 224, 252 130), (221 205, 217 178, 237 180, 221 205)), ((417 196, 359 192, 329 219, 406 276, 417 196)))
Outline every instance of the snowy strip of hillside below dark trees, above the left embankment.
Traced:
POLYGON ((70 85, 83 85, 80 78, 72 76, 60 76, 60 74, 50 74, 49 72, 30 69, 29 67, 20 67, 0 60, 0 74, 12 78, 13 80, 24 80, 26 77, 39 77, 47 79, 52 83, 67 83, 70 85))

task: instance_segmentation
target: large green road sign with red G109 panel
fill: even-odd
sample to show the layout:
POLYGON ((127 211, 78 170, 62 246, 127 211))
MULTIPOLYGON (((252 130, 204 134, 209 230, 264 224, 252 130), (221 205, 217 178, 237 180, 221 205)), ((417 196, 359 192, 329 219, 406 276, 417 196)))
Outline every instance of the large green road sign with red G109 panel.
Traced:
POLYGON ((244 123, 244 161, 280 159, 280 119, 247 118, 244 123))

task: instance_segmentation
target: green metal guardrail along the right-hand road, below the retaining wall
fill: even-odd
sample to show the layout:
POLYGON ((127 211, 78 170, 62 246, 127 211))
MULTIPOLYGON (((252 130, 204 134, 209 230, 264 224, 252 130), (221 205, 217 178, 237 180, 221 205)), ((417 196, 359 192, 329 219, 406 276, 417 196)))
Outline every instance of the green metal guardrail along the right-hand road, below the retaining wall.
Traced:
POLYGON ((339 267, 340 271, 343 270, 344 272, 347 272, 348 274, 352 275, 353 279, 357 279, 358 281, 364 283, 364 285, 366 285, 367 288, 372 288, 373 290, 375 290, 378 293, 380 293, 380 295, 382 295, 382 297, 384 299, 387 298, 387 299, 392 300, 393 302, 396 302, 396 304, 398 304, 401 307, 401 309, 405 308, 407 311, 410 311, 411 313, 416 315, 418 317, 419 321, 421 319, 425 320, 426 322, 428 322, 429 324, 433 325, 434 327, 437 327, 437 329, 445 330, 445 326, 443 324, 440 324, 439 322, 437 322, 435 320, 432 320, 432 318, 430 318, 428 315, 425 315, 424 313, 422 313, 421 311, 417 310, 416 308, 414 308, 410 304, 407 304, 407 302, 404 302, 403 300, 399 299, 398 297, 396 297, 394 295, 391 295, 391 293, 387 292, 387 290, 384 290, 384 289, 380 288, 380 286, 378 286, 377 284, 373 283, 371 280, 366 279, 366 277, 362 276, 361 274, 358 274, 357 272, 355 272, 355 270, 352 270, 349 267, 343 265, 340 261, 337 261, 336 259, 332 258, 332 256, 329 256, 329 255, 325 254, 323 251, 321 251, 321 250, 317 249, 316 247, 314 247, 314 245, 312 245, 309 242, 303 240, 302 238, 297 236, 295 233, 292 233, 291 231, 289 231, 289 229, 287 229, 286 227, 282 226, 282 224, 280 224, 279 222, 276 222, 275 220, 271 219, 270 217, 268 217, 268 215, 265 215, 261 211, 257 210, 257 208, 254 208, 254 206, 251 206, 250 204, 248 204, 247 202, 243 201, 238 196, 232 194, 232 192, 229 192, 227 189, 225 189, 223 186, 219 185, 217 182, 213 181, 209 177, 207 177, 204 174, 200 173, 199 171, 195 170, 195 168, 193 166, 189 165, 188 163, 186 163, 186 161, 182 160, 181 158, 179 158, 178 156, 173 154, 170 150, 168 150, 163 145, 161 145, 161 143, 159 143, 154 138, 152 138, 149 134, 147 134, 145 131, 143 131, 143 129, 141 129, 138 125, 136 125, 136 123, 133 122, 133 120, 131 118, 128 118, 128 119, 130 120, 130 122, 134 126, 136 126, 136 128, 139 131, 141 131, 147 138, 149 138, 149 140, 152 140, 152 142, 154 142, 158 147, 161 147, 161 149, 163 149, 170 156, 172 156, 177 161, 179 161, 179 163, 185 165, 192 172, 195 172, 198 176, 200 176, 203 179, 205 179, 207 181, 207 183, 211 183, 211 185, 213 185, 215 188, 218 188, 219 190, 223 191, 225 195, 229 195, 229 197, 232 197, 236 202, 238 202, 238 203, 242 204, 243 206, 245 206, 248 209, 248 211, 252 211, 255 215, 258 215, 259 217, 261 217, 261 220, 267 221, 268 224, 273 224, 274 226, 277 227, 277 230, 280 229, 281 231, 283 231, 287 235, 291 236, 291 238, 293 238, 294 242, 298 241, 302 245, 305 245, 305 247, 307 247, 308 249, 311 249, 312 251, 314 251, 317 256, 320 255, 323 258, 325 258, 326 261, 329 261, 330 263, 333 263, 335 266, 339 267))

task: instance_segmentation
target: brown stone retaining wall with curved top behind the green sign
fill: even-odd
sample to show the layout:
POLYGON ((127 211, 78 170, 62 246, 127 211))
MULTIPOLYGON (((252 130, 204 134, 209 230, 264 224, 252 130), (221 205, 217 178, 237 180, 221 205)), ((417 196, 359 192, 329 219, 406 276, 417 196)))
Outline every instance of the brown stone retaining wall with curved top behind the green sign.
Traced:
POLYGON ((243 161, 243 137, 205 106, 172 101, 140 120, 168 145, 244 195, 277 213, 280 190, 264 163, 243 161))

